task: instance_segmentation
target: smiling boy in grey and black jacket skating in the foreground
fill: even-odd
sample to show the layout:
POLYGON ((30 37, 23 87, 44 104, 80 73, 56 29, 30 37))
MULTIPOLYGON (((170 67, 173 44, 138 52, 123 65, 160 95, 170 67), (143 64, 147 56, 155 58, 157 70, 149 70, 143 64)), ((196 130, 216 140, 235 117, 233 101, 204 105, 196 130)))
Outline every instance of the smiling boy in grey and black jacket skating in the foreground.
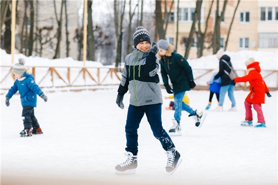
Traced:
POLYGON ((149 32, 142 26, 133 34, 134 50, 125 59, 125 68, 118 88, 117 105, 124 109, 124 95, 129 90, 130 105, 126 122, 127 160, 116 166, 116 174, 134 174, 137 168, 137 129, 146 114, 151 130, 167 153, 166 172, 172 174, 182 161, 171 138, 163 129, 161 106, 163 103, 159 83, 159 60, 155 56, 157 43, 150 48, 149 32))

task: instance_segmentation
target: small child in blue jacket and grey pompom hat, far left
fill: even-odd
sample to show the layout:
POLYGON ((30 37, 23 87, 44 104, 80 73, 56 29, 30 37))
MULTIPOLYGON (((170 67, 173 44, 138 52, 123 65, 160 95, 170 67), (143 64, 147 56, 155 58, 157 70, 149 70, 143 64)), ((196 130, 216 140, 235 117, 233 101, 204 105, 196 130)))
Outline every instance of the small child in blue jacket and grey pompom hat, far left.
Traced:
POLYGON ((16 80, 6 95, 6 105, 9 106, 9 100, 19 91, 21 104, 23 106, 22 119, 24 124, 24 130, 20 133, 21 137, 43 133, 37 118, 34 116, 34 107, 37 106, 37 95, 45 102, 47 101, 47 96, 44 95, 41 88, 34 82, 34 77, 31 75, 30 68, 26 69, 24 64, 25 60, 20 58, 19 63, 13 65, 12 72, 16 80))

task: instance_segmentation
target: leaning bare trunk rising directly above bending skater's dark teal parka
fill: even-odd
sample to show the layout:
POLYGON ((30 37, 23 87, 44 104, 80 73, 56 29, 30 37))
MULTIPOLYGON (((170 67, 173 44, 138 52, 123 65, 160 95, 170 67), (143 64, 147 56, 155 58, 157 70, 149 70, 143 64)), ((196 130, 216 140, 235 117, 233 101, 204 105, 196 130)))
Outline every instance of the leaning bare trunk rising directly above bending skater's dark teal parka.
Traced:
POLYGON ((189 33, 189 37, 188 37, 187 42, 186 42, 186 49, 185 49, 185 53, 184 53, 184 58, 185 59, 188 58, 189 51, 190 51, 190 48, 191 48, 191 45, 192 45, 193 35, 194 35, 194 32, 195 32, 195 24, 197 22, 198 12, 201 11, 202 2, 203 1, 196 1, 196 8, 195 8, 195 13, 194 13, 194 17, 193 17, 193 23, 192 23, 191 30, 190 30, 190 33, 189 33))

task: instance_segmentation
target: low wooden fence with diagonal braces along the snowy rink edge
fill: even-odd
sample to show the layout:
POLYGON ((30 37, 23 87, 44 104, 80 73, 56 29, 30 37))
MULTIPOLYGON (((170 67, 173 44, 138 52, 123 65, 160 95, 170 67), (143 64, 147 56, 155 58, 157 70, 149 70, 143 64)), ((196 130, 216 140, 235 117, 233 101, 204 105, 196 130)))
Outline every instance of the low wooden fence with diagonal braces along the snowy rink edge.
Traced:
MULTIPOLYGON (((12 85, 11 83, 4 84, 5 81, 15 80, 11 72, 12 66, 0 66, 1 67, 1 89, 7 90, 12 85), (3 74, 4 73, 4 74, 3 74), (3 78, 2 78, 3 77, 3 78)), ((120 83, 120 73, 116 72, 115 68, 108 67, 65 67, 65 66, 29 66, 32 67, 32 75, 34 76, 36 83, 41 88, 51 88, 51 87, 83 87, 86 89, 88 86, 104 86, 104 85, 119 85, 120 83), (41 69, 44 69, 43 71, 41 69), (40 79, 37 78, 37 70, 40 71, 40 79), (72 72, 75 71, 75 72, 72 72), (62 75, 63 74, 63 75, 62 75), (56 77, 55 77, 56 76, 56 77), (82 76, 83 81, 92 81, 93 83, 79 84, 77 79, 82 76), (48 77, 48 78, 47 78, 48 77), (49 81, 50 83, 44 83, 49 81), (110 79, 110 80, 108 80, 110 79), (114 80, 116 79, 116 80, 114 80), (60 81, 58 84, 55 81, 60 81), (109 81, 108 83, 105 83, 109 81), (45 85, 47 84, 47 85, 45 85)), ((207 90, 208 86, 206 82, 211 78, 213 69, 193 69, 194 81, 197 86, 194 88, 196 90, 207 90)), ((237 70, 239 76, 245 76, 246 70, 237 70)), ((262 70, 261 74, 269 86, 270 90, 278 90, 278 70, 262 70)), ((161 75, 159 74, 160 79, 161 75)), ((162 79, 161 79, 162 82, 162 79)), ((162 87, 163 83, 161 83, 162 87)), ((79 88, 80 89, 80 88, 79 88)), ((238 83, 235 86, 236 90, 248 90, 249 83, 238 83)), ((77 90, 77 89, 76 89, 77 90)))

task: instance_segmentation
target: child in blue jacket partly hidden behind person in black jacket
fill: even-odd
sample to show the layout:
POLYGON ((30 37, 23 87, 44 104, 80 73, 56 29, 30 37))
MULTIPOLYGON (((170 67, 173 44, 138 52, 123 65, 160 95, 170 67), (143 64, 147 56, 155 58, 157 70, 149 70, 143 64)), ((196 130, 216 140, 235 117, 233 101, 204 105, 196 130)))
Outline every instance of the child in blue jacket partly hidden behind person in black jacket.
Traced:
POLYGON ((206 106, 206 110, 210 109, 211 104, 212 104, 212 98, 213 95, 216 95, 217 101, 219 103, 219 94, 220 94, 220 87, 221 87, 221 77, 218 79, 214 80, 214 77, 217 75, 219 72, 219 66, 216 67, 216 69, 213 70, 213 76, 210 80, 208 80, 207 85, 210 85, 210 99, 208 99, 208 105, 206 106))

